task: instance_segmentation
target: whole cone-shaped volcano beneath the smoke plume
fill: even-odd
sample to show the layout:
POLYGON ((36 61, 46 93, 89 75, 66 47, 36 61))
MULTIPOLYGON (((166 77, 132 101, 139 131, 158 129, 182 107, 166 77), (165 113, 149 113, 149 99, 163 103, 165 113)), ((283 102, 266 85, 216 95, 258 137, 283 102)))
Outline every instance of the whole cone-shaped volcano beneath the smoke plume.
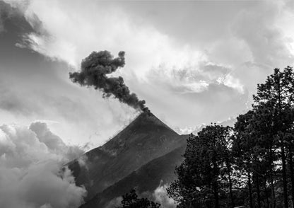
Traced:
POLYGON ((152 191, 175 179, 187 135, 179 135, 151 112, 143 112, 103 146, 68 164, 88 191, 83 207, 105 207, 133 187, 152 191), (82 162, 81 162, 82 161, 82 162))

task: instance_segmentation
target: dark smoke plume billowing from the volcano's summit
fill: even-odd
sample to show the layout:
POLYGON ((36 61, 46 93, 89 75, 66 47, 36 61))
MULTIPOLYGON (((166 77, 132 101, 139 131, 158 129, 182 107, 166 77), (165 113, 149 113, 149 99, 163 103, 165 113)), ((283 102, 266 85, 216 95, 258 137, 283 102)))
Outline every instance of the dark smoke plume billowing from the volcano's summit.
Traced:
POLYGON ((114 96, 120 102, 142 110, 148 111, 145 100, 139 100, 135 93, 129 91, 122 76, 108 77, 107 74, 124 67, 124 52, 119 52, 119 57, 113 58, 108 51, 92 52, 81 63, 81 71, 69 74, 71 81, 80 83, 81 86, 94 86, 103 93, 103 97, 114 96))

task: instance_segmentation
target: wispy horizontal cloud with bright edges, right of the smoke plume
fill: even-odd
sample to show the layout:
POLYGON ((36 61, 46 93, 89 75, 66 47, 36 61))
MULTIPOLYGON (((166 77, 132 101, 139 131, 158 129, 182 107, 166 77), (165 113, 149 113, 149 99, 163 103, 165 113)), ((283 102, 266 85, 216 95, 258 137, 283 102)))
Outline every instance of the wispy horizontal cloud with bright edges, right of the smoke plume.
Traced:
POLYGON ((166 67, 164 64, 151 70, 147 77, 172 88, 176 93, 201 93, 213 84, 222 84, 243 94, 244 86, 232 76, 231 67, 211 62, 199 62, 197 66, 166 67))

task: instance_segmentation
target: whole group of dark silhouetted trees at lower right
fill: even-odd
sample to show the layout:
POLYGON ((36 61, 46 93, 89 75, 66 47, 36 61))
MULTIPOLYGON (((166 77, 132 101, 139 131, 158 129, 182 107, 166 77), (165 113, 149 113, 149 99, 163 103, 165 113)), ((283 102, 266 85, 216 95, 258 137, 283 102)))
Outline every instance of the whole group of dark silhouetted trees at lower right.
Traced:
POLYGON ((274 69, 234 127, 187 140, 167 193, 177 207, 293 207, 294 73, 274 69))

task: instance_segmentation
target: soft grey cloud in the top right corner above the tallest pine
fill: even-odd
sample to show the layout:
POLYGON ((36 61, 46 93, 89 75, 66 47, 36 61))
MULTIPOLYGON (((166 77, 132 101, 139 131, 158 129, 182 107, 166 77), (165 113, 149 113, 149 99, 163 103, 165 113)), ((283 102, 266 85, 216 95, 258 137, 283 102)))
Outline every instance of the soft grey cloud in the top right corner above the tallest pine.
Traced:
POLYGON ((293 63, 293 53, 288 49, 288 34, 284 33, 287 28, 277 25, 283 16, 286 16, 283 1, 264 1, 237 16, 233 33, 248 45, 253 62, 271 69, 293 63))

